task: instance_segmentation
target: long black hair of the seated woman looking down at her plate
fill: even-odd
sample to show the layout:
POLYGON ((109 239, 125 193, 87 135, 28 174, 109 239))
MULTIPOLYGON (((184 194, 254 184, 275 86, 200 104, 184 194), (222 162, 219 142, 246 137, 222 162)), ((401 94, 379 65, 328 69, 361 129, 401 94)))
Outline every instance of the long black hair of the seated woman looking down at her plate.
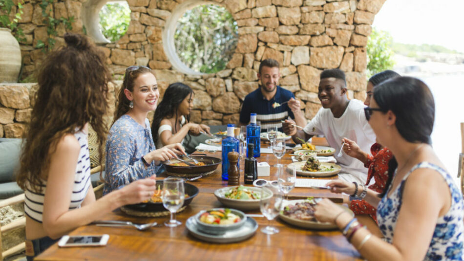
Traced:
MULTIPOLYGON (((155 110, 153 122, 151 123, 151 135, 153 136, 153 142, 155 144, 159 139, 158 129, 160 128, 161 121, 164 118, 170 118, 173 116, 176 117, 174 131, 177 132, 177 108, 179 107, 179 104, 181 104, 182 101, 185 99, 185 97, 192 94, 193 90, 188 85, 185 85, 183 83, 173 83, 168 86, 164 93, 163 100, 161 100, 160 104, 155 110)), ((190 115, 187 115, 186 118, 187 123, 190 121, 190 115)))

